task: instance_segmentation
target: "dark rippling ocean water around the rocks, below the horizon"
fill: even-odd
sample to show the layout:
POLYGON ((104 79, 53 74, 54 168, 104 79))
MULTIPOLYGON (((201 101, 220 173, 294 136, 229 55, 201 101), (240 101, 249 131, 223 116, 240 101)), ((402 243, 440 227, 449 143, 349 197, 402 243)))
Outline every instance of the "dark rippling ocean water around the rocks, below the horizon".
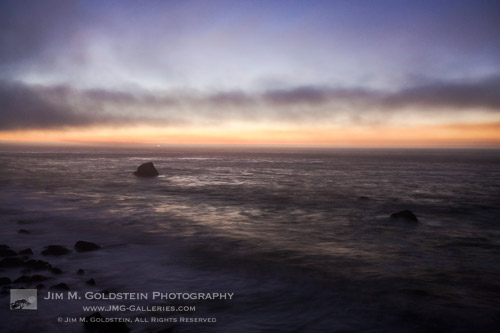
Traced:
MULTIPOLYGON (((42 300, 0 331, 84 332, 84 305, 132 332, 489 332, 500 327, 500 150, 0 147, 0 244, 51 285, 232 299, 42 300), (160 176, 132 175, 152 161, 160 176), (418 223, 391 220, 409 209, 418 223), (30 234, 19 233, 25 229, 30 234), (44 246, 98 251, 41 255, 44 246), (85 275, 76 274, 83 269, 85 275), (95 286, 86 284, 93 278, 95 286), (151 317, 176 318, 169 323, 151 317), (179 318, 215 322, 181 322, 179 318), (29 320, 27 319, 29 318, 29 320)), ((0 268, 14 281, 23 268, 0 268)))

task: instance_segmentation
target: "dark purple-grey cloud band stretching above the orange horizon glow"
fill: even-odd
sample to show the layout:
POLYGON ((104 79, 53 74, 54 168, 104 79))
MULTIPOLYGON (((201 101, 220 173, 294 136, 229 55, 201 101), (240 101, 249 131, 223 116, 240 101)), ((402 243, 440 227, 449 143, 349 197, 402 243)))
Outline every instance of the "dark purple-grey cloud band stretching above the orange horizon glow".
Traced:
MULTIPOLYGON (((476 82, 439 82, 397 92, 298 87, 258 94, 227 91, 119 92, 69 86, 0 83, 0 130, 91 125, 220 124, 227 120, 328 122, 337 116, 383 117, 419 112, 500 112, 500 75, 476 82)), ((378 121, 380 121, 379 119, 378 121)), ((383 120, 383 119, 382 119, 383 120)), ((377 121, 377 119, 375 119, 377 121)))

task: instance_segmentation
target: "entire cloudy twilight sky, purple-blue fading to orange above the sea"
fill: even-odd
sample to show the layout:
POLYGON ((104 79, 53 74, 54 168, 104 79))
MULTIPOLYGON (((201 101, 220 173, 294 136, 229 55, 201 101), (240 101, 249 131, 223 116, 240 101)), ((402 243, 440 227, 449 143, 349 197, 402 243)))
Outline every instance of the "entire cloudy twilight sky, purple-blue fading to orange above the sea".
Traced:
POLYGON ((4 0, 0 142, 500 147, 500 3, 4 0))

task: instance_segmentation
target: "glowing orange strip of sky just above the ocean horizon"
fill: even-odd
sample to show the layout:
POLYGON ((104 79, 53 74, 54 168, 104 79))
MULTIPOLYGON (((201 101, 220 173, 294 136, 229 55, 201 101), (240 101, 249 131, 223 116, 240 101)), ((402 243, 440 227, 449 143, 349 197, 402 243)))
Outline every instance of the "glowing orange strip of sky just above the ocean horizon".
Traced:
POLYGON ((500 122, 352 127, 67 128, 0 132, 0 142, 500 147, 500 122))

